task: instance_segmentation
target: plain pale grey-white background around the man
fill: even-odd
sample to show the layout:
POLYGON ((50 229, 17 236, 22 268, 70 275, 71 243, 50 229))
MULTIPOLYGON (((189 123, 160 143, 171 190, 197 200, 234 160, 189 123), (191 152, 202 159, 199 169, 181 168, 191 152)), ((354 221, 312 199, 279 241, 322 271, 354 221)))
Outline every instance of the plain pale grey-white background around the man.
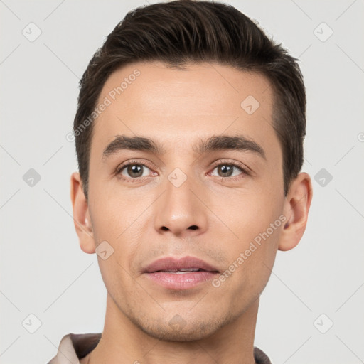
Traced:
MULTIPOLYGON (((74 231, 77 164, 65 135, 88 61, 127 11, 146 4, 0 1, 1 363, 47 363, 66 333, 102 331, 106 291, 74 231), (31 22, 42 32, 33 42, 22 34, 31 22), (23 181, 30 168, 41 176, 33 187, 23 181), (35 333, 22 326, 29 314, 42 323, 35 333)), ((255 345, 275 364, 364 363, 364 2, 230 4, 300 58, 308 95, 303 171, 314 200, 300 244, 278 252, 255 345), (322 22, 333 31, 324 42, 314 33, 329 34, 322 22), (333 176, 326 186, 314 179, 321 168, 333 176), (314 326, 321 314, 321 330, 333 321, 326 333, 314 326)))

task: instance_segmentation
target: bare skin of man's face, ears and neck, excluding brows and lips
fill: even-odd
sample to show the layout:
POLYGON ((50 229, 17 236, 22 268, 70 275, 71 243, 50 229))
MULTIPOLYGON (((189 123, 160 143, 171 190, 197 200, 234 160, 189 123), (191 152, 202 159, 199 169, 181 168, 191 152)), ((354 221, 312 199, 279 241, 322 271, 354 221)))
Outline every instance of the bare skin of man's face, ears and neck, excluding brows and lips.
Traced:
POLYGON ((79 173, 71 177, 81 249, 93 254, 104 240, 114 249, 106 260, 97 256, 107 288, 105 327, 100 343, 80 362, 255 363, 259 296, 277 250, 301 240, 311 179, 299 173, 284 196, 273 93, 264 76, 218 64, 176 70, 159 62, 134 63, 110 75, 99 100, 135 69, 139 77, 94 122, 88 201, 79 173), (253 114, 240 106, 248 95, 260 104, 253 114), (166 153, 121 150, 103 159, 107 144, 120 134, 149 137, 166 153), (200 139, 237 134, 262 146, 266 158, 252 151, 193 149, 200 139), (127 168, 115 173, 131 160, 147 164, 142 177, 127 168), (239 168, 232 176, 222 174, 218 166, 231 163, 250 174, 239 168), (187 178, 179 187, 168 180, 175 168, 187 178), (171 290, 142 272, 160 257, 187 255, 224 272, 282 214, 285 222, 220 287, 207 282, 171 290), (169 325, 176 315, 177 329, 169 325))

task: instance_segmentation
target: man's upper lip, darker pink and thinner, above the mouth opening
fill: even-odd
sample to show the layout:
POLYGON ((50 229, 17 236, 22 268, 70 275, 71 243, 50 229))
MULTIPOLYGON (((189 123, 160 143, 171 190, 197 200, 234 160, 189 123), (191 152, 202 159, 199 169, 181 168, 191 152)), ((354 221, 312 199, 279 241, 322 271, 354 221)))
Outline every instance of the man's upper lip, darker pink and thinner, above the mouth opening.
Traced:
POLYGON ((179 259, 174 257, 164 257, 157 259, 153 263, 149 264, 144 272, 153 273, 159 271, 177 271, 178 269, 191 268, 201 269, 207 272, 218 272, 218 269, 196 257, 183 257, 179 259))

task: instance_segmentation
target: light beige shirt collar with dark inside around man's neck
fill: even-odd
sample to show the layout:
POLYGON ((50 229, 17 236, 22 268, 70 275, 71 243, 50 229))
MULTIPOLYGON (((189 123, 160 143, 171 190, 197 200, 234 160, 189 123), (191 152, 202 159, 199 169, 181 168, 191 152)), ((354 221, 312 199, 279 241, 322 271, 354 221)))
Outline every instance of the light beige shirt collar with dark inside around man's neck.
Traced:
MULTIPOLYGON (((99 343, 101 333, 68 333, 63 336, 58 353, 48 364, 80 364, 80 359, 94 350, 99 343)), ((267 355, 259 348, 254 348, 256 364, 272 364, 267 355)))

